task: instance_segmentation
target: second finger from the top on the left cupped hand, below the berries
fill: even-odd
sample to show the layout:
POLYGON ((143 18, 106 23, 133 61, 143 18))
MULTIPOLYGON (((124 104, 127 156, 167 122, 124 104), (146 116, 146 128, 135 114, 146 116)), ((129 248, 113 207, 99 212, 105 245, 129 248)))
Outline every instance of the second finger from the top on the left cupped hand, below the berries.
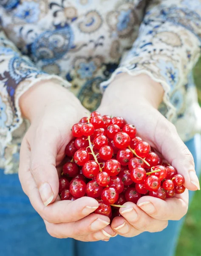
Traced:
MULTIPOLYGON (((70 223, 49 223, 45 221, 45 226, 48 233, 57 238, 77 238, 86 236, 90 233, 102 230, 109 225, 108 217, 99 214, 91 214, 87 217, 70 223)), ((105 231, 106 232, 106 231, 105 231)), ((110 226, 108 226, 107 233, 113 234, 110 226)))

